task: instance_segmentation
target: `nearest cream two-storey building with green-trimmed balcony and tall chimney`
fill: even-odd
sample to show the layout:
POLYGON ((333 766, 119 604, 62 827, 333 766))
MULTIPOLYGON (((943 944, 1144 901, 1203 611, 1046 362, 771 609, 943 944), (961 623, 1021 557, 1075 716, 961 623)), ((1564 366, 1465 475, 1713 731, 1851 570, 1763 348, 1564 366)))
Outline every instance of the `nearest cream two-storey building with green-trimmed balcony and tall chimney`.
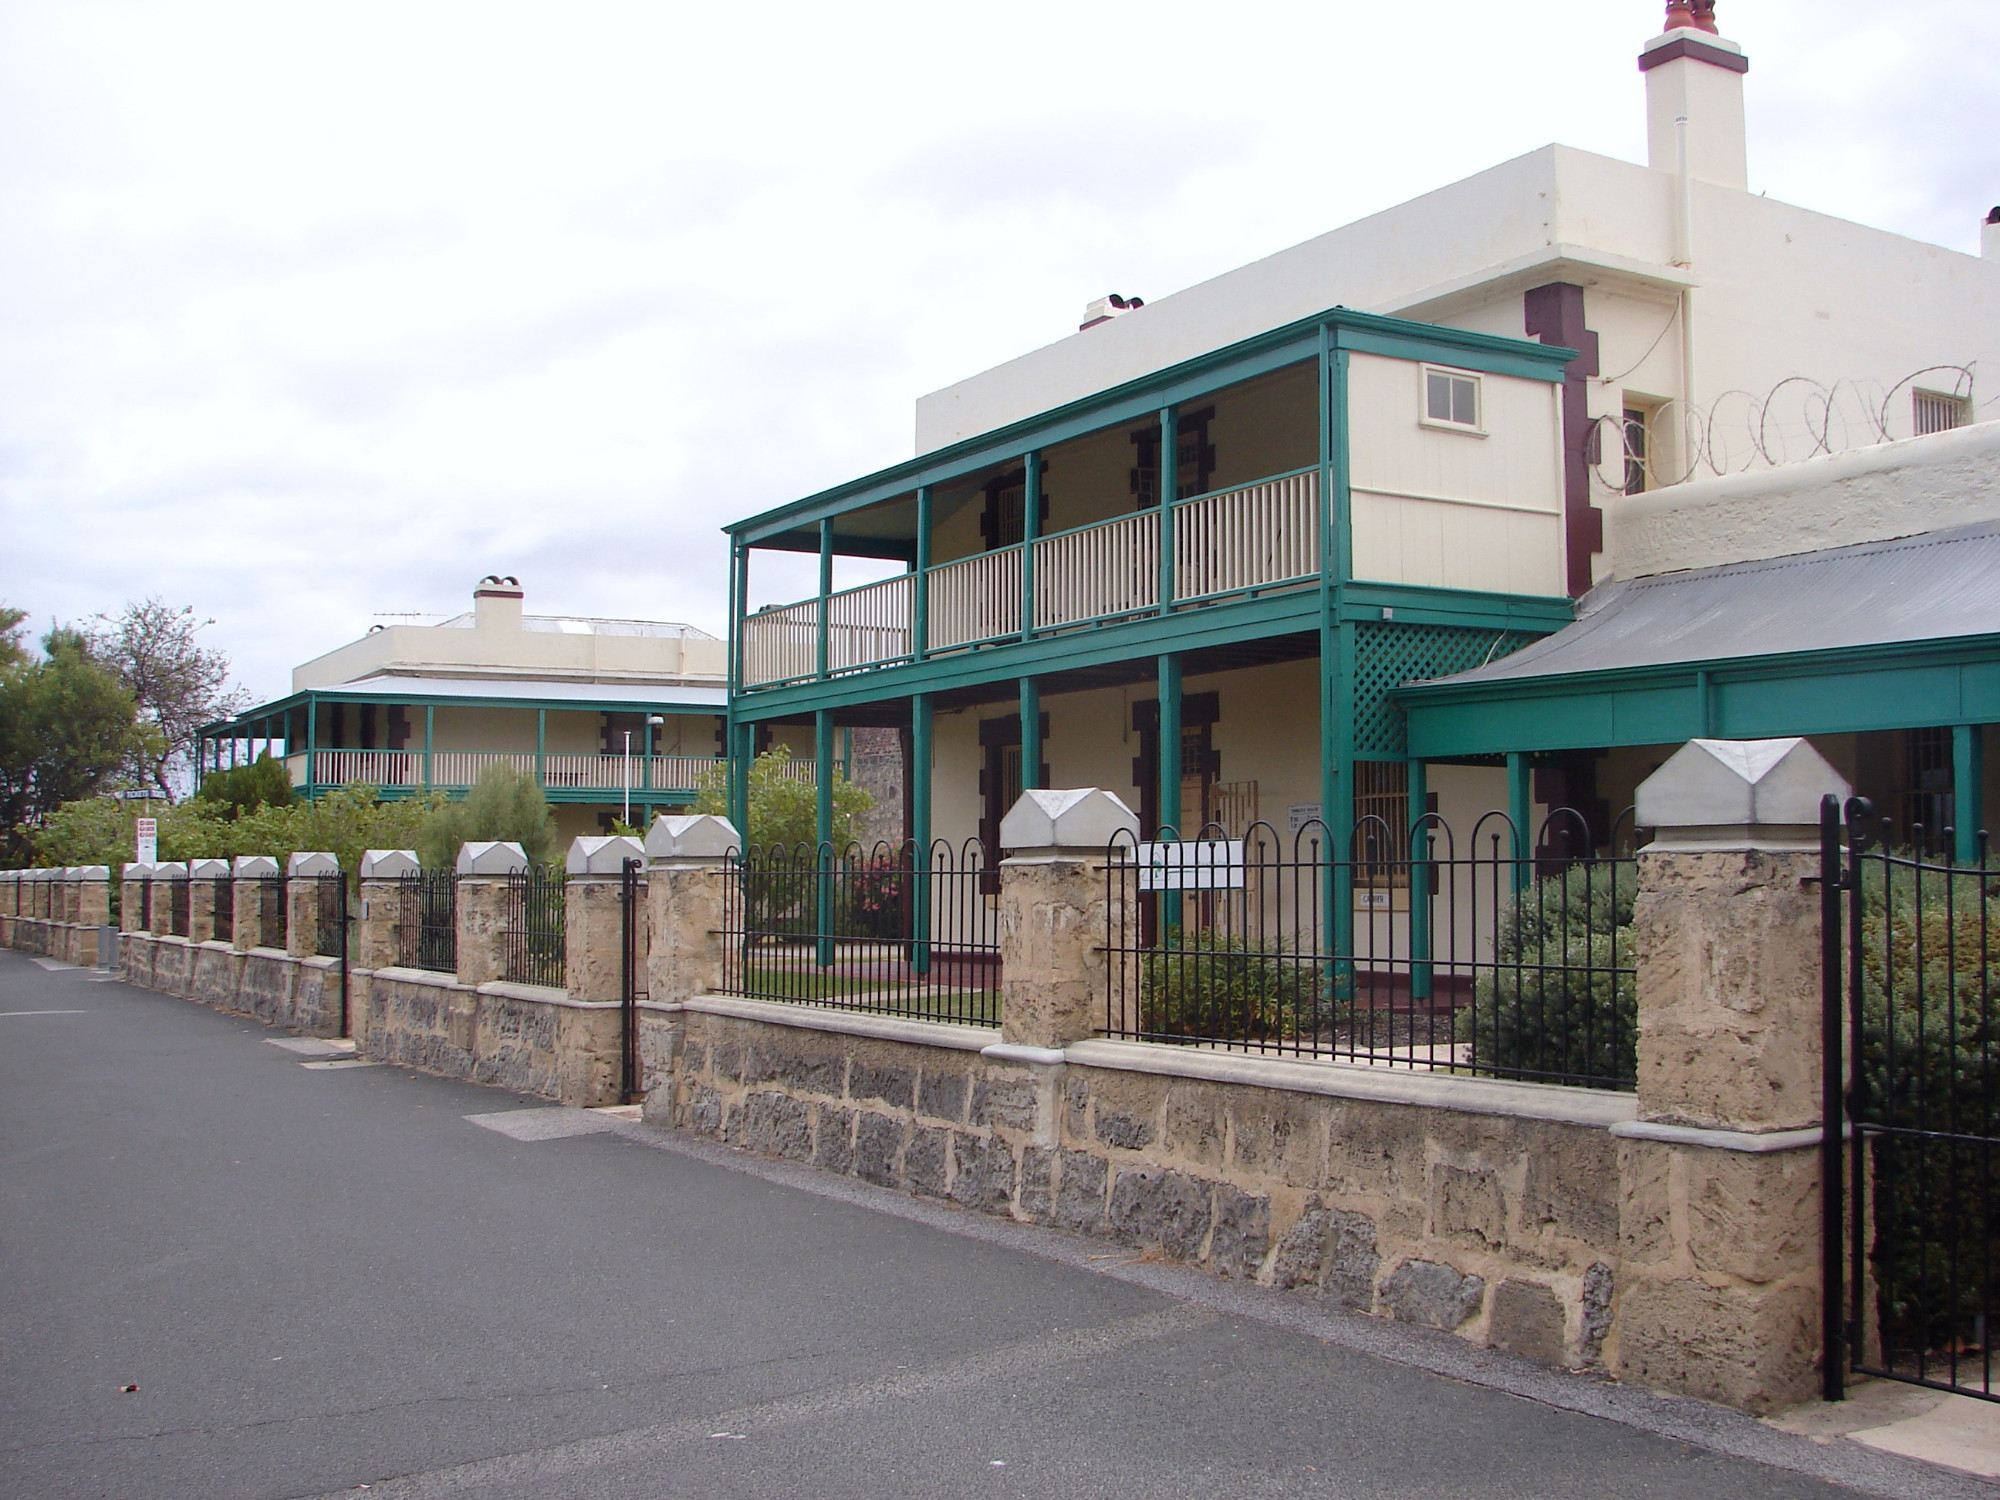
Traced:
MULTIPOLYGON (((1392 690, 1574 618, 1606 510, 1976 420, 2000 258, 1748 190, 1740 48, 1668 6, 1650 162, 1550 146, 918 402, 918 456, 728 528, 732 766, 894 726, 918 840, 1024 786, 1148 830, 1538 798, 1410 754, 1392 690), (762 550, 822 586, 750 610, 762 550), (834 590, 834 558, 900 572, 834 590)), ((1122 302, 1122 300, 1120 300, 1122 302)), ((1528 746, 1522 746, 1526 750, 1528 746)))

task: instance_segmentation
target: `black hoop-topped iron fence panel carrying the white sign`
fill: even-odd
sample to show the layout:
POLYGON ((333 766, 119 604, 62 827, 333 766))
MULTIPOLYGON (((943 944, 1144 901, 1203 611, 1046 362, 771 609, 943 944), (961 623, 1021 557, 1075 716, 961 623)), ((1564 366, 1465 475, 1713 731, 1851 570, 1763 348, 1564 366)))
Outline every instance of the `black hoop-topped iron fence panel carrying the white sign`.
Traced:
POLYGON ((1168 834, 1108 850, 1108 1036, 1632 1088, 1636 866, 1580 814, 1168 834))

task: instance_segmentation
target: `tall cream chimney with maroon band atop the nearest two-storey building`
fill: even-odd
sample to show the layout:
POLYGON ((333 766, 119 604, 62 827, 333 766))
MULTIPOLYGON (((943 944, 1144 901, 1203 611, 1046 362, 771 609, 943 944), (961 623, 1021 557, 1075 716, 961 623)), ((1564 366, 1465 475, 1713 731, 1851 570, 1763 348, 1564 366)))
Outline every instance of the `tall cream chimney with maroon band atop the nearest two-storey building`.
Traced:
POLYGON ((1688 176, 1750 190, 1744 144, 1744 74, 1750 60, 1716 34, 1714 0, 1668 0, 1666 32, 1638 58, 1646 74, 1646 158, 1680 172, 1680 122, 1688 132, 1688 176))

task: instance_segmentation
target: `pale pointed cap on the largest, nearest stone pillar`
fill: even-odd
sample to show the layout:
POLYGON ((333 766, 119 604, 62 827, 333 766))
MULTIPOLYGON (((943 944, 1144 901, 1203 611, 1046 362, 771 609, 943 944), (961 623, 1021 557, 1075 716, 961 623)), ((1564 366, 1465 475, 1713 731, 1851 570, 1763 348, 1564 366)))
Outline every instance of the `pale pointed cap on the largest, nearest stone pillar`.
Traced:
POLYGON ((1846 778, 1806 740, 1688 740, 1638 784, 1634 820, 1656 850, 1816 848, 1820 798, 1846 778))

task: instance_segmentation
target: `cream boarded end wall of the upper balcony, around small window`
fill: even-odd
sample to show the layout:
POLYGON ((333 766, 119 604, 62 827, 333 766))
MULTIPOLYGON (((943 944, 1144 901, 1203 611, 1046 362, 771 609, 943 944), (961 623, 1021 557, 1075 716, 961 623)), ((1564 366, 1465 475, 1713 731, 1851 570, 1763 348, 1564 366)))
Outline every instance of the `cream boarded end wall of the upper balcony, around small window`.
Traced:
POLYGON ((1562 416, 1544 380, 1480 376, 1484 432, 1426 426, 1426 366, 1348 374, 1358 578, 1562 594, 1562 416))

